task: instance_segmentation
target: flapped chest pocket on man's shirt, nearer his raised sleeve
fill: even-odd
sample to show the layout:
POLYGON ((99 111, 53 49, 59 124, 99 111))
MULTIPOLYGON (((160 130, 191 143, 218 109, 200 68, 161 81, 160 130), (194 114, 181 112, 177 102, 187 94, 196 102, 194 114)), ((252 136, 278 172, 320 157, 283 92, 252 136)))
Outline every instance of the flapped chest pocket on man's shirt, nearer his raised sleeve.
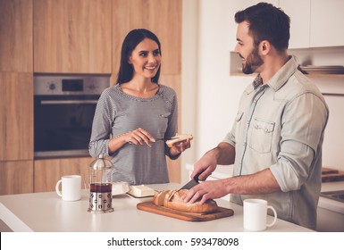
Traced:
POLYGON ((255 119, 251 130, 249 147, 258 153, 269 153, 273 142, 273 121, 255 119))

